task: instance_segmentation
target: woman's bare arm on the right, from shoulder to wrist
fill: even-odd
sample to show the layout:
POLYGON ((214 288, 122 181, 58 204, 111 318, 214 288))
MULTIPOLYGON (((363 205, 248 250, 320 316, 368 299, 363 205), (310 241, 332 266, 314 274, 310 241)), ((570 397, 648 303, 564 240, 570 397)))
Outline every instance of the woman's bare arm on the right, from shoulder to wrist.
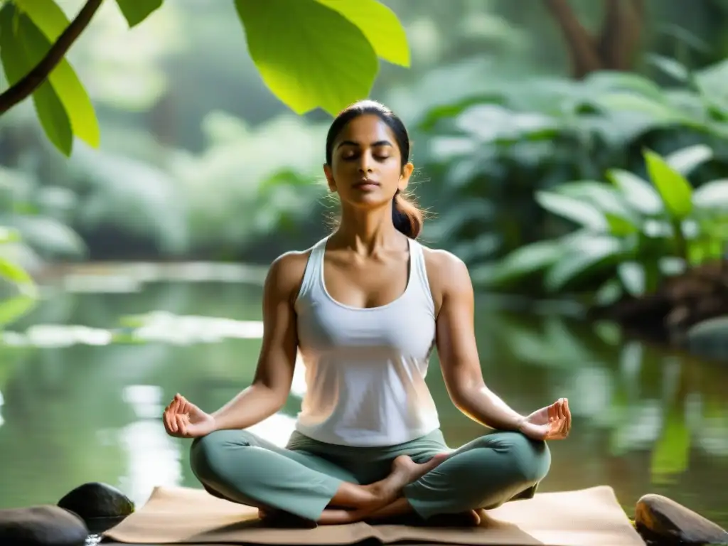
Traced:
POLYGON ((475 344, 475 297, 467 266, 441 250, 430 253, 433 288, 440 309, 436 341, 440 368, 448 394, 456 407, 471 419, 497 430, 519 430, 523 416, 513 411, 486 387, 475 344))

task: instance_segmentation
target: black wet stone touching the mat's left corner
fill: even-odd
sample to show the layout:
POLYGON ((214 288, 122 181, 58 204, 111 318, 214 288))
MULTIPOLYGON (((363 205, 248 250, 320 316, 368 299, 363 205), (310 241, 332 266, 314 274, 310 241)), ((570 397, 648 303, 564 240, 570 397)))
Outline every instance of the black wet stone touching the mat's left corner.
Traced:
POLYGON ((85 522, 123 519, 134 511, 134 503, 119 489, 106 483, 84 483, 69 491, 58 506, 80 515, 85 522))

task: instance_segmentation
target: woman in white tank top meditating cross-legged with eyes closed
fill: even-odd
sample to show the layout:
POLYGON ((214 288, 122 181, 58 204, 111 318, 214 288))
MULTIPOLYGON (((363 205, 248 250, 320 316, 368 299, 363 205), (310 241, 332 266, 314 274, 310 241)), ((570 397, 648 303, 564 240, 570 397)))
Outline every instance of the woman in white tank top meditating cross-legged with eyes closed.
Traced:
POLYGON ((470 274, 416 240, 422 213, 404 197, 414 167, 403 123, 379 103, 355 103, 334 120, 325 151, 341 221, 270 267, 253 384, 213 414, 176 395, 167 433, 194 438, 191 467, 207 491, 263 517, 477 523, 479 508, 533 496, 550 467, 545 440, 569 435, 569 404, 522 416, 486 387, 470 274), (454 451, 424 380, 434 347, 453 403, 494 429, 454 451), (306 394, 280 448, 246 429, 282 408, 298 351, 306 394))

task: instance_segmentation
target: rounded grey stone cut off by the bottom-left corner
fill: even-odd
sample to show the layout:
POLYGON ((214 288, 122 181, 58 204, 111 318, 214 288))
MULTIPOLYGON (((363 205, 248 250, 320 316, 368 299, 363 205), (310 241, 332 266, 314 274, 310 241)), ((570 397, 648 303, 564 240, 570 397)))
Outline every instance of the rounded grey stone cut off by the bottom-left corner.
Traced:
POLYGON ((89 531, 78 515, 58 506, 0 510, 0 544, 82 546, 89 531))

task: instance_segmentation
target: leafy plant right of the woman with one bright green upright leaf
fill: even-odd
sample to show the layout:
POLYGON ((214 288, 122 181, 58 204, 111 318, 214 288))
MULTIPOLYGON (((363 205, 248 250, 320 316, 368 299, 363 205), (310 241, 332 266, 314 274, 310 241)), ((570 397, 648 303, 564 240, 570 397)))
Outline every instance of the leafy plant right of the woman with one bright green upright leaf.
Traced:
POLYGON ((721 258, 728 242, 728 180, 694 189, 687 174, 712 157, 706 146, 668 157, 644 150, 649 181, 621 169, 609 183, 574 181, 537 191, 536 201, 578 226, 553 240, 507 254, 490 270, 491 286, 542 279, 547 293, 596 288, 600 298, 655 290, 671 274, 721 258))

